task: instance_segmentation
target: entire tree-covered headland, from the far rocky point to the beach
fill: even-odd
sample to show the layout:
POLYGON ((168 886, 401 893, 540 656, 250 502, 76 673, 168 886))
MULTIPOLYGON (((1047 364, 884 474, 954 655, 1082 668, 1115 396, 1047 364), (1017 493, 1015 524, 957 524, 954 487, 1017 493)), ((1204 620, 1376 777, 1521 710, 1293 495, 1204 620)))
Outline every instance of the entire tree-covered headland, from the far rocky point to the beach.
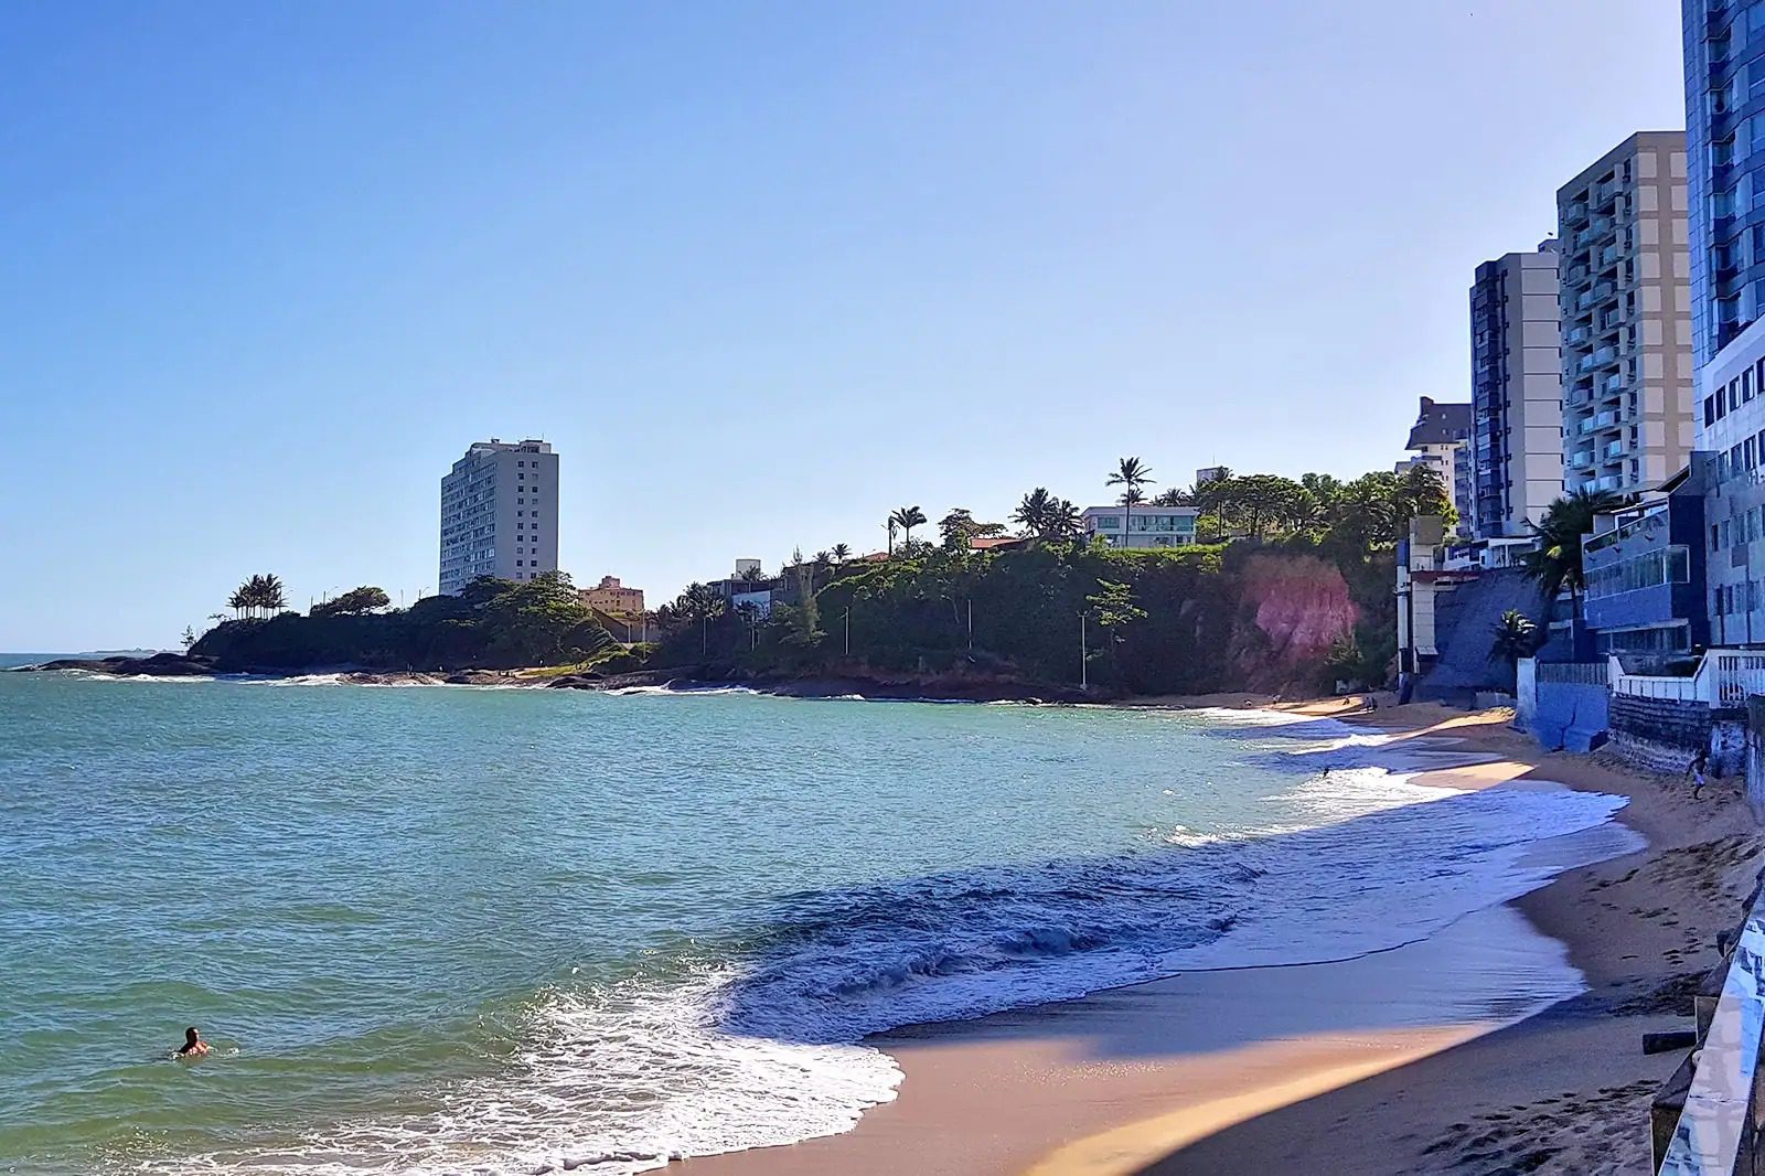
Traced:
MULTIPOLYGON (((1147 496, 1138 459, 1108 473, 1124 516, 1193 507, 1195 540, 1112 547, 1085 540, 1080 510, 1047 487, 1010 523, 951 509, 934 528, 918 505, 890 512, 888 551, 835 544, 787 562, 771 607, 736 607, 692 584, 653 616, 655 645, 621 645, 612 618, 570 577, 480 579, 461 595, 390 607, 364 584, 288 609, 275 576, 252 576, 185 659, 145 673, 455 675, 554 667, 540 680, 591 685, 741 680, 780 690, 877 689, 967 696, 1145 696, 1327 689, 1384 682, 1396 650, 1393 554, 1419 514, 1451 521, 1426 470, 1354 480, 1308 473, 1225 477, 1147 496), (898 539, 897 539, 898 535, 898 539), (171 666, 176 669, 171 669, 171 666), (852 685, 856 683, 856 685, 852 685)), ((125 669, 132 673, 132 669, 125 669)))

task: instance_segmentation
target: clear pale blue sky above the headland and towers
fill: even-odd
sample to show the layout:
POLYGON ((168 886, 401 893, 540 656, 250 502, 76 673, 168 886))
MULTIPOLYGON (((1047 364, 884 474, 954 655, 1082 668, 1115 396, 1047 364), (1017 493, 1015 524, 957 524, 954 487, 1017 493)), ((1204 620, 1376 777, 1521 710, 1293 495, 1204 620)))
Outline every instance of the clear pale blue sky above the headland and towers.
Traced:
POLYGON ((0 650, 431 592, 468 443, 660 604, 1121 456, 1340 475, 1684 125, 1671 0, 0 7, 0 650))

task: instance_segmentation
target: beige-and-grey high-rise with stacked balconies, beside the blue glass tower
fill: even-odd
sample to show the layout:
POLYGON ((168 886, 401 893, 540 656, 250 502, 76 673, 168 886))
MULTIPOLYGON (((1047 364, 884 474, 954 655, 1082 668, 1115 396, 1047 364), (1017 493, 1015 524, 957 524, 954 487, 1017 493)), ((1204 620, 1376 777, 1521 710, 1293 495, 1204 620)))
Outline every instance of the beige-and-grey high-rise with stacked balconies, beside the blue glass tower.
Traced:
POLYGON ((1569 489, 1633 494, 1693 445, 1686 132, 1640 131, 1557 191, 1569 489))

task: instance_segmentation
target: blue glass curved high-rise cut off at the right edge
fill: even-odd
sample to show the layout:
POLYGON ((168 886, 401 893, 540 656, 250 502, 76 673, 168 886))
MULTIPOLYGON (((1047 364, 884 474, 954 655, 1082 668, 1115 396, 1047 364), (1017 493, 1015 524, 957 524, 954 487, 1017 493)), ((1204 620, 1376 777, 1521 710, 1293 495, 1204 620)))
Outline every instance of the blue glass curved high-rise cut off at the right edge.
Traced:
POLYGON ((1701 367, 1765 318, 1765 0, 1684 0, 1691 339, 1701 367))

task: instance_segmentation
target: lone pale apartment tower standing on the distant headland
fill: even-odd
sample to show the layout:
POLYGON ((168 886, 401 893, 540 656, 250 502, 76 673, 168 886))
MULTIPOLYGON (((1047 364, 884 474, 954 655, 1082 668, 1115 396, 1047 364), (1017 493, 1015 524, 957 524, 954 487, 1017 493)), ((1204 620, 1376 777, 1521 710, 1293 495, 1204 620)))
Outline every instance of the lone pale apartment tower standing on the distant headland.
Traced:
POLYGON ((556 570, 558 454, 545 441, 475 441, 441 479, 441 592, 556 570))

